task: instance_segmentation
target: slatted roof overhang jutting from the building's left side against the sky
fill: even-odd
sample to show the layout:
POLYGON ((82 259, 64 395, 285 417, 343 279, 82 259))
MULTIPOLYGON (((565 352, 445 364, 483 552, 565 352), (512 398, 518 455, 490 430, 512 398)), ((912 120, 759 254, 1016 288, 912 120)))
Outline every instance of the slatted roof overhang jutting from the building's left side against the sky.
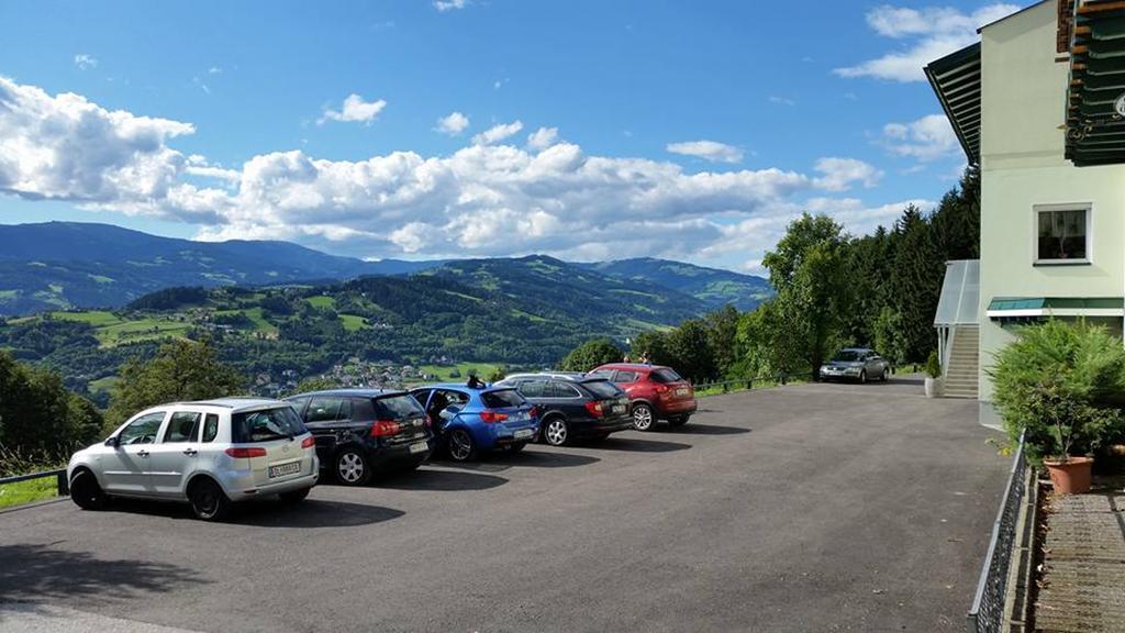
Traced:
POLYGON ((965 157, 971 164, 978 164, 981 151, 980 42, 930 62, 925 71, 965 157))

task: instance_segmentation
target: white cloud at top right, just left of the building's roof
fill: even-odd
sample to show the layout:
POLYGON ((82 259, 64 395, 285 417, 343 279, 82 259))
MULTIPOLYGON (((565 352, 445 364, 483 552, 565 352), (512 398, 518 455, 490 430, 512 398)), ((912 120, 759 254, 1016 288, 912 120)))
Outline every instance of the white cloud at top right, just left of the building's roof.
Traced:
POLYGON ((1018 10, 1018 5, 1008 3, 988 5, 972 14, 952 7, 875 7, 867 12, 867 25, 879 35, 907 44, 880 57, 832 72, 840 77, 924 81, 926 64, 976 42, 978 27, 1018 10))

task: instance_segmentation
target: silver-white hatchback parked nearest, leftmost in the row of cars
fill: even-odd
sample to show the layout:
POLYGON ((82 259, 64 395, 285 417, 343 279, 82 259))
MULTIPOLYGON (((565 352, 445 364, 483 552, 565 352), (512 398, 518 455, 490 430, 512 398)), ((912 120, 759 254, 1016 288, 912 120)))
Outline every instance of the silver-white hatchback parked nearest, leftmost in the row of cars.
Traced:
POLYGON ((66 475, 83 509, 112 497, 164 499, 213 520, 233 501, 300 501, 320 470, 316 442, 288 402, 223 398, 145 409, 75 453, 66 475))

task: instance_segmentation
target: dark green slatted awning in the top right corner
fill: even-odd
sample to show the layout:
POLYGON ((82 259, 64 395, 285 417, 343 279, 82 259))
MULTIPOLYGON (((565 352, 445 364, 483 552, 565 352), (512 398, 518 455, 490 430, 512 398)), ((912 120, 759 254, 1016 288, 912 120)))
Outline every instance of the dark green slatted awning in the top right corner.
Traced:
POLYGON ((1066 158, 1125 162, 1125 2, 1078 0, 1070 32, 1066 158))

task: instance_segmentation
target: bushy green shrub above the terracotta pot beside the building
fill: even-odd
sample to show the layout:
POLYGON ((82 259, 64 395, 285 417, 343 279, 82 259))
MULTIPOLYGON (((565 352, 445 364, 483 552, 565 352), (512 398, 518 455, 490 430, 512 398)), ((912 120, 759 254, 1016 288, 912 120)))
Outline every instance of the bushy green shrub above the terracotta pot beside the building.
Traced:
POLYGON ((1020 330, 989 373, 1008 439, 1026 431, 1028 454, 1087 454, 1125 425, 1125 349, 1105 328, 1052 320, 1020 330))

